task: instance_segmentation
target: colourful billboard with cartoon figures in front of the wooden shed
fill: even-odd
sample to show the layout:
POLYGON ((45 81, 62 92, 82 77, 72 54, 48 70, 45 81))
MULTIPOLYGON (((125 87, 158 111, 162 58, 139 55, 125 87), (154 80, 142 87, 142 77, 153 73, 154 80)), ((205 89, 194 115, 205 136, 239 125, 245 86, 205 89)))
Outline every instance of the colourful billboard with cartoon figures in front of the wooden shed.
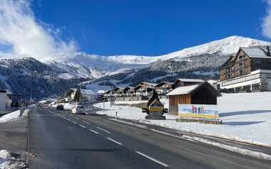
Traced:
POLYGON ((219 118, 218 105, 178 104, 178 116, 219 118))

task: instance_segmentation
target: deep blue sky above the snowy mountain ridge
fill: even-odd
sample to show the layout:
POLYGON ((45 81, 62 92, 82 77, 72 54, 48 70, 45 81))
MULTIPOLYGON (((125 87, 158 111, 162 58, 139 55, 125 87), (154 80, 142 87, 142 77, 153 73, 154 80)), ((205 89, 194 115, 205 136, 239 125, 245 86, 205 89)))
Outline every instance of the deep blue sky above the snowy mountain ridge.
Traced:
MULTIPOLYGON (((52 52, 163 55, 228 36, 268 41, 271 38, 270 0, 26 0, 25 4, 0 1, 9 7, 4 11, 0 5, 2 13, 14 8, 14 13, 21 10, 19 15, 29 16, 33 22, 30 28, 40 31, 35 40, 53 43, 46 47, 52 52)), ((6 30, 14 26, 14 21, 24 21, 22 17, 5 19, 6 23, 1 23, 0 16, 2 26, 10 25, 6 30)), ((16 24, 18 28, 22 25, 16 24)), ((24 29, 27 32, 29 28, 24 29)), ((33 42, 21 48, 23 43, 15 38, 1 38, 0 33, 0 49, 29 55, 26 48, 35 45, 35 40, 31 38, 33 42)), ((36 48, 46 52, 40 46, 36 48)))

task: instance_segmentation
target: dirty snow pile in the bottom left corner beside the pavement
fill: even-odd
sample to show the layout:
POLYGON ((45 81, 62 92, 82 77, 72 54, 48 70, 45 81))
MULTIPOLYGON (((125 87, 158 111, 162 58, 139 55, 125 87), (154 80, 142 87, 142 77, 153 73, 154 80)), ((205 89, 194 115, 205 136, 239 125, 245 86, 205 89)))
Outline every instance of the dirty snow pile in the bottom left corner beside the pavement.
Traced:
MULTIPOLYGON (((16 154, 17 155, 17 154, 16 154)), ((19 159, 9 153, 9 151, 1 150, 0 151, 0 168, 5 169, 19 169, 26 168, 26 165, 19 159)))

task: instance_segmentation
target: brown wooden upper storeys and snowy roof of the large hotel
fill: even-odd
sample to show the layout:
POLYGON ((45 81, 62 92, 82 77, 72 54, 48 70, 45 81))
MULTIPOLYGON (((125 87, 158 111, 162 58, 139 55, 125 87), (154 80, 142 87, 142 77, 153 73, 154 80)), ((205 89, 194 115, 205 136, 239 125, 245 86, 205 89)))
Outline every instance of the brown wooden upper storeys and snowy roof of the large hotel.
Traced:
POLYGON ((239 48, 236 55, 230 56, 220 72, 220 82, 255 70, 271 70, 270 48, 239 48))

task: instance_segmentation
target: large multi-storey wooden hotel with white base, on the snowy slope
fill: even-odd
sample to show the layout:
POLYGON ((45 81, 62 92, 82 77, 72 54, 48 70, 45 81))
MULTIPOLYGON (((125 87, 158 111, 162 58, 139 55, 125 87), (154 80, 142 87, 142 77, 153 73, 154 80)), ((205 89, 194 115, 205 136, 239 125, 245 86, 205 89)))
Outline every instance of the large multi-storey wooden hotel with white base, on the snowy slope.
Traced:
POLYGON ((261 78, 266 78, 271 90, 270 48, 240 48, 220 69, 218 89, 228 92, 257 92, 261 78))

